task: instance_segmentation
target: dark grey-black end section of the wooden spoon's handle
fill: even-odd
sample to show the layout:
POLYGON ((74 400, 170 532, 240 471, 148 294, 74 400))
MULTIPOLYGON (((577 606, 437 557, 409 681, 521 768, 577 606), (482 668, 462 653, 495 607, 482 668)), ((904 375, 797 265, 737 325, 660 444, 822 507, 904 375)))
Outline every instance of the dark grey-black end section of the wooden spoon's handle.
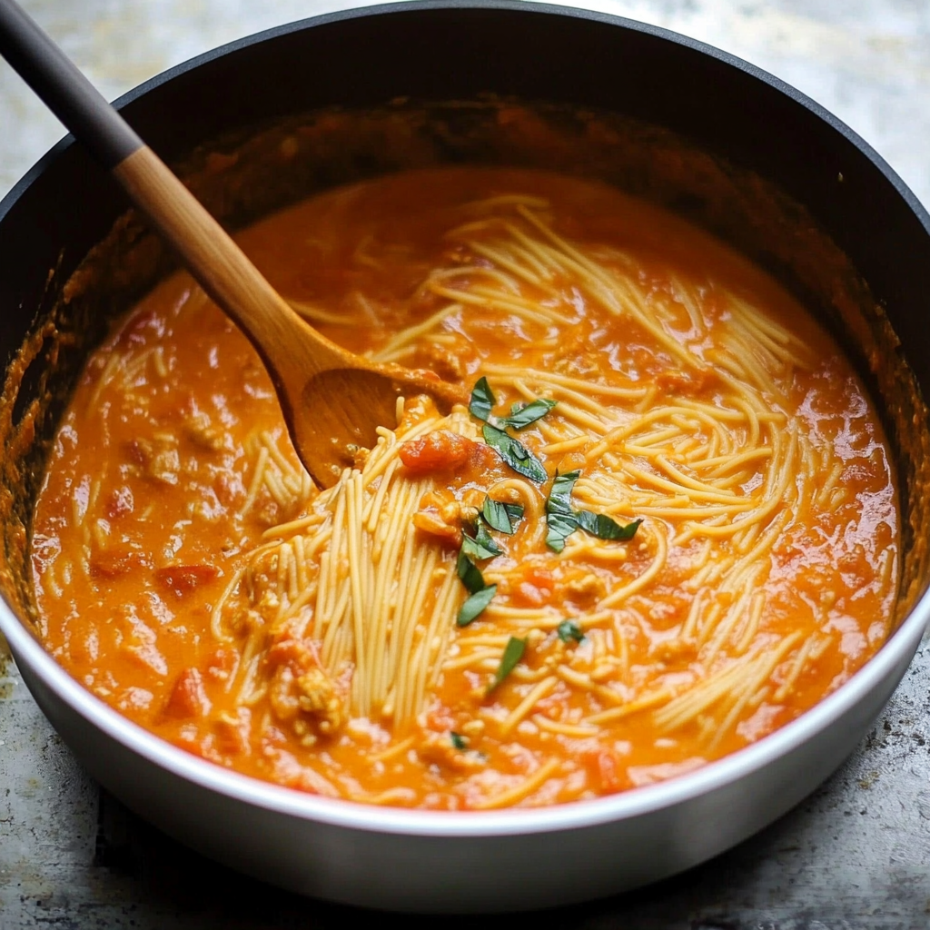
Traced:
POLYGON ((0 0, 0 56, 104 167, 142 140, 15 0, 0 0))

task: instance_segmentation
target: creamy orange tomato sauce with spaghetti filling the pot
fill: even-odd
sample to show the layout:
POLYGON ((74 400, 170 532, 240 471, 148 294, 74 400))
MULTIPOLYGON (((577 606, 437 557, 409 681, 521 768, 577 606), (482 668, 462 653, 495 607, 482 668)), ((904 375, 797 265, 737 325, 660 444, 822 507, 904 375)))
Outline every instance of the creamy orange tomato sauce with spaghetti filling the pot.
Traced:
POLYGON ((129 719, 355 801, 556 804, 737 751, 883 643, 898 526, 877 417, 793 299, 705 233, 600 184, 449 168, 239 241, 340 344, 485 377, 498 426, 556 401, 502 426, 544 477, 482 419, 409 399, 393 471, 360 453, 356 490, 319 495, 256 353, 174 275, 90 359, 33 520, 46 646, 129 719), (572 472, 569 523, 642 521, 630 538, 551 542, 572 472), (512 533, 487 498, 522 508, 512 533), (496 551, 472 586, 496 588, 459 623, 479 530, 496 551))

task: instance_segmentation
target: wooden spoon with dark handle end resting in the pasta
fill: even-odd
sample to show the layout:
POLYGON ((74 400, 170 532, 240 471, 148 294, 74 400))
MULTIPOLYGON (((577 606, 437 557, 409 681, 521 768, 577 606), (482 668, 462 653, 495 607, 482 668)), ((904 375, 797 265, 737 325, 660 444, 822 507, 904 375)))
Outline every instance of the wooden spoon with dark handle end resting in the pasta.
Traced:
POLYGON ((397 398, 428 394, 441 412, 463 389, 432 372, 375 365, 294 312, 219 223, 14 0, 0 0, 0 55, 105 166, 188 271, 258 350, 294 448, 313 480, 335 484, 356 447, 396 424, 397 398))

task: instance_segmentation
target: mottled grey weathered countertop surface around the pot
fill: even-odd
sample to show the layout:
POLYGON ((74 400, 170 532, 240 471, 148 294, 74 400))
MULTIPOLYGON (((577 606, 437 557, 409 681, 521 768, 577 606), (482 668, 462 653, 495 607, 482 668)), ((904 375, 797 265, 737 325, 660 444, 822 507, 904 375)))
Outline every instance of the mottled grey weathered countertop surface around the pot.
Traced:
MULTIPOLYGON (((208 48, 343 6, 338 0, 22 3, 111 99, 208 48)), ((869 140, 930 205, 927 0, 580 5, 692 35, 775 73, 869 140)), ((54 117, 0 61, 0 196, 61 135, 54 117)), ((854 756, 773 827, 658 886, 538 919, 588 930, 930 927, 927 643, 854 756)), ((7 659, 0 643, 0 930, 325 930, 358 916, 243 879, 130 815, 74 763, 7 659)), ((363 921, 372 916, 361 914, 363 921)), ((516 920, 522 918, 444 918, 443 924, 503 927, 516 920)))

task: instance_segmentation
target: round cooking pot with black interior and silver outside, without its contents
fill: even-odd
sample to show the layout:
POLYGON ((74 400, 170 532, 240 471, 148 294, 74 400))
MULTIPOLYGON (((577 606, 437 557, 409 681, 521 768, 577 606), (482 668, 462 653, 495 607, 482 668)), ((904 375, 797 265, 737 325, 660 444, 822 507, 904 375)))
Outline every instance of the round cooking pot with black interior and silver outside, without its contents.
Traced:
POLYGON ((228 225, 405 166, 542 166, 609 180, 741 248, 849 352, 897 461, 897 629, 812 711, 720 762, 596 801, 439 813, 348 804, 208 764, 128 723, 35 636, 28 526, 86 352, 171 266, 64 140, 0 205, 0 630, 86 769, 206 855, 301 893, 397 910, 516 910, 684 870, 797 804, 852 751, 927 620, 930 218, 848 128, 715 49, 597 13, 427 0, 295 23, 118 103, 228 225), (54 320, 55 327, 46 326, 54 320))

